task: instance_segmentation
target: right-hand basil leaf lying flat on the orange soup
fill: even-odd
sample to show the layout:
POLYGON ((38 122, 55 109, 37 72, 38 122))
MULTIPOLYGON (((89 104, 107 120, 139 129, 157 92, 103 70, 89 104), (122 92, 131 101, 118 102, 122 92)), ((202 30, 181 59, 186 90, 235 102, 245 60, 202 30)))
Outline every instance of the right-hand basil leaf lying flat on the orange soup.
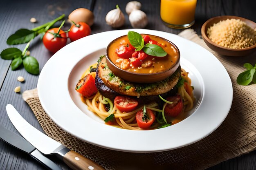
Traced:
POLYGON ((155 44, 146 44, 143 48, 143 51, 148 55, 156 56, 156 57, 164 57, 167 53, 162 49, 162 47, 155 44))

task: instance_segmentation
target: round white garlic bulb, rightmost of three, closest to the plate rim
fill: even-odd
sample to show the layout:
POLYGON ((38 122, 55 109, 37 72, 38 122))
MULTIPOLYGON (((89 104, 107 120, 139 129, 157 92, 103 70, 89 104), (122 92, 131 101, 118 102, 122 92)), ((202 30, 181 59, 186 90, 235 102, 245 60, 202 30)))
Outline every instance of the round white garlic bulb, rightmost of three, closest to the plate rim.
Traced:
POLYGON ((141 10, 133 10, 129 15, 129 20, 133 28, 145 28, 148 24, 146 13, 141 10))

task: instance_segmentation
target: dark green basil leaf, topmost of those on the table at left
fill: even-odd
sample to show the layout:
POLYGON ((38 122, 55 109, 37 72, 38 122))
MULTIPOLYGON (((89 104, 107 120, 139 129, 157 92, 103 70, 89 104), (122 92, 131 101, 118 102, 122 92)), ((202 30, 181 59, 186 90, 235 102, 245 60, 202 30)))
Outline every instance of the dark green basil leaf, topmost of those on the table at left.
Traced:
POLYGON ((7 44, 24 44, 35 38, 36 32, 28 29, 19 29, 7 39, 7 44))

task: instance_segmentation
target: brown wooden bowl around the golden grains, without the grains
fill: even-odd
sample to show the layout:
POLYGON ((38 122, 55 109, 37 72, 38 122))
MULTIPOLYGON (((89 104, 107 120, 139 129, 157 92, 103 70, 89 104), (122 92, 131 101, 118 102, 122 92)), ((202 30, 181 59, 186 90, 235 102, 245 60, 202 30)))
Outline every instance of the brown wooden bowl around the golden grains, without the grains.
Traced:
POLYGON ((220 53, 222 55, 245 56, 245 55, 249 55, 249 54, 254 53, 256 51, 256 44, 254 44, 253 46, 244 48, 244 49, 231 49, 231 48, 227 48, 227 47, 224 47, 224 46, 220 46, 220 45, 216 44, 215 42, 212 42, 208 38, 207 29, 210 26, 213 26, 213 24, 218 23, 222 20, 227 20, 227 19, 232 19, 232 18, 240 19, 240 20, 244 21, 248 26, 252 27, 253 29, 256 28, 256 23, 255 22, 253 22, 251 20, 247 20, 245 18, 241 18, 241 17, 237 17, 237 16, 229 16, 229 15, 214 17, 214 18, 211 18, 211 19, 207 20, 201 28, 202 38, 203 38, 204 42, 213 51, 216 51, 217 53, 220 53))

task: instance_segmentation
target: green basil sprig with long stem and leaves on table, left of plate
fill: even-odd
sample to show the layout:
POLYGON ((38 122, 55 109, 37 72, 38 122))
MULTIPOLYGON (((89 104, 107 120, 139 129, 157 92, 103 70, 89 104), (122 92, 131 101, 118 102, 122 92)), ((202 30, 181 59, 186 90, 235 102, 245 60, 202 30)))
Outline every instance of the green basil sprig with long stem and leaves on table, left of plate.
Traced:
MULTIPOLYGON (((47 22, 43 25, 40 25, 34 29, 19 29, 14 34, 10 35, 7 39, 7 44, 16 45, 16 44, 24 44, 27 43, 25 49, 20 51, 17 48, 8 48, 4 49, 0 56, 4 60, 13 60, 11 62, 11 69, 16 70, 22 64, 25 70, 31 74, 38 75, 39 74, 39 64, 35 57, 27 56, 26 52, 29 48, 30 42, 40 33, 46 32, 51 26, 53 26, 57 21, 62 20, 64 18, 64 14, 59 16, 58 18, 47 22)), ((63 24, 62 24, 63 25, 63 24)))

